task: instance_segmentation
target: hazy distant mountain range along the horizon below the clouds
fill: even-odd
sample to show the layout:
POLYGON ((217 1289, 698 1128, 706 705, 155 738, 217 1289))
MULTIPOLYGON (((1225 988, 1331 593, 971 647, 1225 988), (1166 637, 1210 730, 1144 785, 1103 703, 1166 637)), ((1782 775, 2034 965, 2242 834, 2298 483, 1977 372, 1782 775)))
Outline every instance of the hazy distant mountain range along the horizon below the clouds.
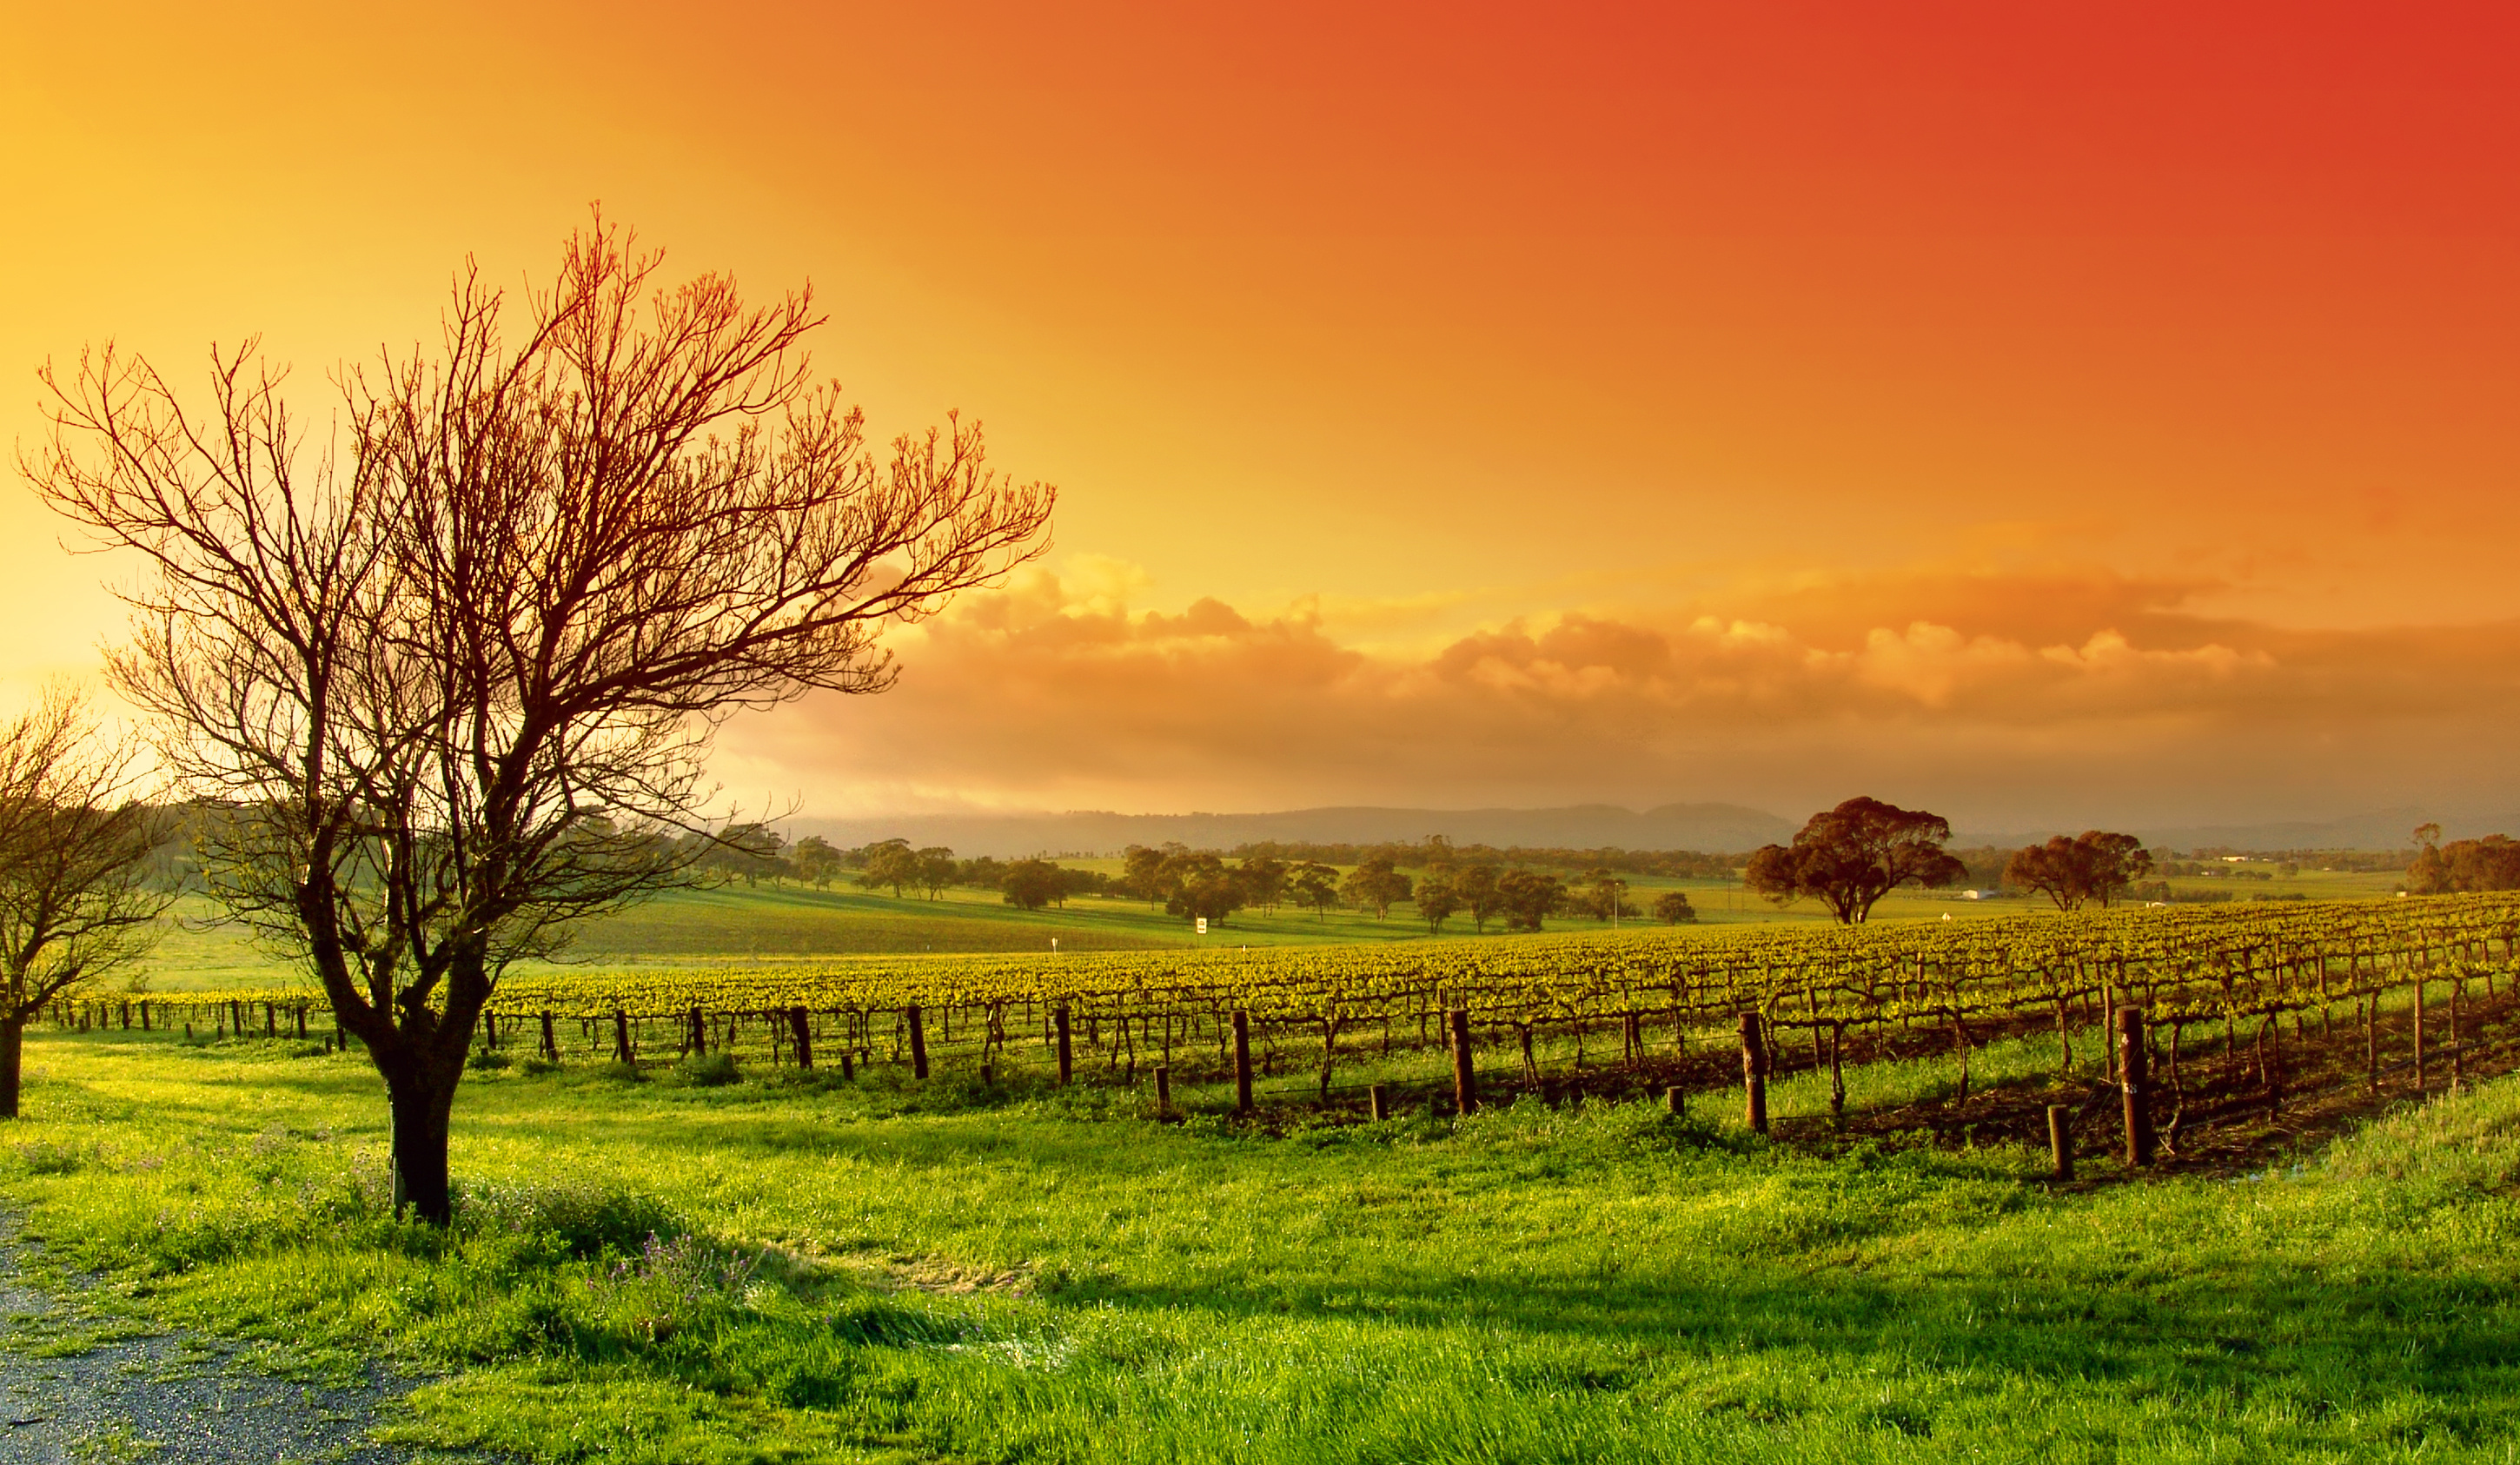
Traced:
MULTIPOLYGON (((2155 850, 2404 850, 2412 830, 2439 819, 2452 840, 2492 832, 2520 832, 2520 814, 2424 814, 2422 809, 2379 809, 2346 819, 2296 819, 2271 825, 2180 825, 2132 830, 2155 850)), ((1759 845, 1794 837, 1799 822, 1744 809, 1741 804, 1663 804, 1623 809, 1618 804, 1567 804, 1562 809, 1285 809, 1275 814, 902 814, 885 819, 789 819, 789 837, 822 835, 842 847, 874 840, 945 845, 955 855, 1119 855, 1129 845, 1177 840, 1192 850, 1232 850, 1275 840, 1280 845, 1416 845, 1444 835, 1454 845, 1497 845, 1525 850, 1704 850, 1739 855, 1759 845)), ((2059 832, 1981 832, 1958 830, 1953 845, 2016 847, 2059 832)))

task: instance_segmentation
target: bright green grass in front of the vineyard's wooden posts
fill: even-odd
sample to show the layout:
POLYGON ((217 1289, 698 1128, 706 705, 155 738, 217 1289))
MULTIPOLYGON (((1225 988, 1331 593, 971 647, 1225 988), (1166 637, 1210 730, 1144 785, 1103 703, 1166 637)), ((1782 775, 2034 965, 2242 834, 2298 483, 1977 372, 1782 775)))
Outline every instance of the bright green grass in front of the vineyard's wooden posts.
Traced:
POLYGON ((0 1190, 108 1316, 444 1377, 537 1460, 2507 1460, 2520 1084, 2243 1183, 1651 1107, 1237 1135, 1109 1089, 466 1087, 396 1225, 355 1057, 40 1034, 0 1190))

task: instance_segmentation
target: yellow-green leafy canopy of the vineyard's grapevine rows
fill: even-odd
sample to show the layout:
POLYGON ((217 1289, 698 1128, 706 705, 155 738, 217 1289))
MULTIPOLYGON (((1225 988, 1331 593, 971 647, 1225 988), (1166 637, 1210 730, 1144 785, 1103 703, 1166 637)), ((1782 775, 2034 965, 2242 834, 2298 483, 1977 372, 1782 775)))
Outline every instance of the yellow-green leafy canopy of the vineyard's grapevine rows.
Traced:
MULTIPOLYGON (((1411 946, 1159 951, 1074 956, 968 956, 834 961, 743 971, 509 973, 491 999, 491 1026, 570 1024, 590 1046, 617 1054, 665 1024, 680 1049, 716 1046, 759 1021, 774 1051, 794 1029, 829 1051, 895 1054, 912 1041, 960 1044, 988 1062, 1013 1036, 1048 1039, 1066 1011, 1094 1046, 1114 1034, 1114 1067, 1169 1059, 1174 1046, 1222 1041, 1230 1011, 1260 1029, 1313 1031, 1336 1054, 1378 1029, 1389 1049, 1429 1041, 1446 1009, 1489 1031, 1535 1026, 1583 1031, 1620 1021, 1630 1049, 1643 1024, 1683 1041, 1756 1011, 1769 1029, 1842 1039, 1887 1024, 1948 1026, 1966 1051, 1971 1026, 2019 1026, 2054 1014, 2137 1004, 2155 1024, 2243 1024, 2278 1014, 2376 1004, 2417 981, 2454 993, 2490 988, 2512 966, 2520 898, 2449 895, 2386 903, 2286 903, 2243 908, 2142 908, 2079 915, 2013 915, 1968 923, 1860 928, 1761 925, 1729 930, 1542 935, 1411 946), (917 1016, 910 1016, 917 1009, 917 1016), (907 1019, 907 1021, 905 1021, 907 1019), (615 1029, 607 1034, 605 1029, 615 1029), (711 1036, 716 1034, 716 1039, 711 1036)), ((323 1009, 302 986, 141 999, 161 1021, 280 1031, 323 1009), (255 1021, 260 1009, 260 1021, 255 1021), (184 1019, 174 1014, 184 1011, 184 1019)), ((129 1026, 129 1001, 121 1004, 129 1026)), ((2369 1011, 2369 1006, 2366 1006, 2369 1011)), ((63 1021, 106 1021, 68 1009, 63 1021)))

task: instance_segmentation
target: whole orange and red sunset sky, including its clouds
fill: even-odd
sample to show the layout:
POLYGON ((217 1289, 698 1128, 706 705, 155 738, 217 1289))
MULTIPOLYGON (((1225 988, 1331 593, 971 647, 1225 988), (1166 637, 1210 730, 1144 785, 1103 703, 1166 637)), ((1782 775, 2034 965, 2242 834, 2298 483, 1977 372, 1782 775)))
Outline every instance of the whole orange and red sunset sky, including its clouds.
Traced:
MULTIPOLYGON (((0 126, 20 444, 600 199, 1058 484, 753 802, 2520 809, 2512 8, 106 3, 0 126)), ((113 572, 0 497, 8 691, 113 572)))

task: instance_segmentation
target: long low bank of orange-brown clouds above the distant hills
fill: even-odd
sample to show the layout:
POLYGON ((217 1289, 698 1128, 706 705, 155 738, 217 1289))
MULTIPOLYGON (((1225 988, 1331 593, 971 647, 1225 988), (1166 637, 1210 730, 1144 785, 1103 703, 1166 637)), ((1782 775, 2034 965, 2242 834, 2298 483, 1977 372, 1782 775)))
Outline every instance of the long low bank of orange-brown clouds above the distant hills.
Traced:
POLYGON ((1431 653, 1310 603, 1137 610, 1033 572, 897 638, 879 698, 728 729, 814 812, 985 802, 1265 809, 1852 792, 1973 822, 2331 814, 2507 799, 2520 625, 2286 630, 2107 575, 1837 577, 1507 620, 1431 653))

